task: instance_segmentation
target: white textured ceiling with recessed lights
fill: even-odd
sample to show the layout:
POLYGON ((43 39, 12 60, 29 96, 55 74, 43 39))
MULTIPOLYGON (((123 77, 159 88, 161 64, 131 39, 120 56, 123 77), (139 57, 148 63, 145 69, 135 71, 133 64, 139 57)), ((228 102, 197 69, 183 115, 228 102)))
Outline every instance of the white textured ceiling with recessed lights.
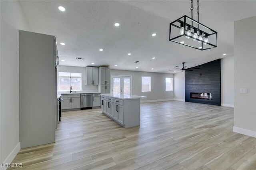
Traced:
POLYGON ((218 32, 218 47, 200 51, 168 39, 170 22, 191 15, 190 0, 20 2, 33 32, 56 36, 60 60, 65 60, 60 65, 85 67, 95 63, 112 69, 160 73, 173 73, 168 70, 181 67, 182 62, 193 67, 222 58, 223 53, 233 55, 234 21, 256 16, 254 0, 200 0, 199 22, 218 32), (59 11, 58 6, 66 11, 59 11), (116 22, 119 27, 114 26, 116 22), (157 35, 152 37, 152 33, 157 35), (101 48, 104 50, 99 51, 101 48), (140 62, 134 63, 136 60, 140 62))

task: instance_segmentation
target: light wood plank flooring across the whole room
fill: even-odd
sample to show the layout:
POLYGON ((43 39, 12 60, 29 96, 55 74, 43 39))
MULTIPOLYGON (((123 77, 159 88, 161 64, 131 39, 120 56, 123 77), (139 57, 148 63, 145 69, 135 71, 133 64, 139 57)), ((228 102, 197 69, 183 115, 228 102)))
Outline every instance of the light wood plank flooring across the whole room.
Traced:
POLYGON ((256 138, 232 132, 233 115, 231 107, 142 103, 141 125, 123 128, 100 109, 64 112, 56 143, 22 149, 13 162, 28 170, 255 170, 256 138))

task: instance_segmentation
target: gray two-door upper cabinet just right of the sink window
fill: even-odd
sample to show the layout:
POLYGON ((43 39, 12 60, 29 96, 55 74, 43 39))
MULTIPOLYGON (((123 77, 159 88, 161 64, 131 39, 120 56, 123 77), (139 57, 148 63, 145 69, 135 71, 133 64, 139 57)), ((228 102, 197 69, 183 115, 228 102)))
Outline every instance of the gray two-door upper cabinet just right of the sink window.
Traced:
POLYGON ((99 68, 86 67, 86 85, 99 85, 99 68))

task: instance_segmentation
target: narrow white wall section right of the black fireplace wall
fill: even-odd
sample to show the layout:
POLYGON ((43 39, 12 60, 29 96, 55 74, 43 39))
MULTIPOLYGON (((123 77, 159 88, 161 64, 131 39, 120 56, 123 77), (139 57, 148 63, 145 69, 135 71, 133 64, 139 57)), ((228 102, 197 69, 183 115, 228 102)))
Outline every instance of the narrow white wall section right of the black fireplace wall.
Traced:
POLYGON ((234 107, 234 56, 221 59, 221 105, 234 107))

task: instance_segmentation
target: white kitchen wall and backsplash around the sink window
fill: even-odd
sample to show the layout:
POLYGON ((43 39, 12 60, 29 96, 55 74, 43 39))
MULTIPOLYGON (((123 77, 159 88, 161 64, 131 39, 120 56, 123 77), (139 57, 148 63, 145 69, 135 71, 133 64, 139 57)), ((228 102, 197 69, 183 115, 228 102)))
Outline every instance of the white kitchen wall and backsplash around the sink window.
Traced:
POLYGON ((82 73, 82 91, 98 92, 98 85, 85 85, 85 67, 58 65, 58 72, 82 73))

